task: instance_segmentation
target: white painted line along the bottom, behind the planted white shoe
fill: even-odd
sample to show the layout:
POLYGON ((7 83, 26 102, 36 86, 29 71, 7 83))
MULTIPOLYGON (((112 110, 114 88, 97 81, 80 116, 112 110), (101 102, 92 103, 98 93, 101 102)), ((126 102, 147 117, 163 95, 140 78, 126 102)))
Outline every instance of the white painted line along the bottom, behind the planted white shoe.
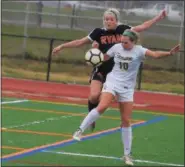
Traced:
MULTIPOLYGON (((48 150, 43 150, 42 152, 52 153, 52 154, 71 155, 71 156, 122 160, 122 158, 113 157, 113 156, 105 156, 105 155, 81 154, 81 153, 59 152, 59 151, 48 151, 48 150)), ((181 164, 163 163, 163 162, 155 162, 155 161, 139 160, 139 159, 135 159, 133 161, 138 162, 138 163, 149 163, 149 164, 156 164, 156 165, 158 164, 158 165, 165 165, 165 166, 184 166, 181 164)))

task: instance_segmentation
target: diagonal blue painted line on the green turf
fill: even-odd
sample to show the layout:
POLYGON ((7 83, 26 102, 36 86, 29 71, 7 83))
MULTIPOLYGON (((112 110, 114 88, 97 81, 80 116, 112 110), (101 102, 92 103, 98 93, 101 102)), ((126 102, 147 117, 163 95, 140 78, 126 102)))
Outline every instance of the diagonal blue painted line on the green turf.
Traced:
MULTIPOLYGON (((146 125, 149 125, 149 124, 153 124, 153 123, 163 121, 165 119, 167 119, 166 116, 159 116, 159 117, 155 117, 154 119, 151 119, 149 121, 146 121, 144 123, 135 124, 132 127, 133 128, 142 127, 142 126, 146 126, 146 125)), ((100 134, 96 134, 96 135, 93 135, 93 136, 83 137, 82 141, 95 139, 95 138, 99 138, 99 137, 102 137, 102 136, 107 136, 107 135, 116 133, 118 131, 120 131, 120 128, 112 130, 112 131, 108 131, 108 132, 102 132, 100 134)), ((65 146, 72 145, 72 144, 77 143, 77 142, 78 141, 75 141, 75 140, 71 139, 70 141, 58 143, 56 145, 46 146, 46 147, 42 147, 42 148, 35 148, 33 150, 29 150, 28 152, 24 152, 24 153, 20 153, 20 154, 17 154, 17 155, 12 155, 12 156, 9 156, 9 157, 1 158, 1 161, 2 162, 7 162, 7 161, 11 161, 11 160, 16 160, 16 159, 19 159, 19 158, 23 158, 25 156, 30 156, 30 155, 33 155, 35 153, 42 152, 44 150, 54 149, 54 148, 59 148, 59 147, 65 147, 65 146)))

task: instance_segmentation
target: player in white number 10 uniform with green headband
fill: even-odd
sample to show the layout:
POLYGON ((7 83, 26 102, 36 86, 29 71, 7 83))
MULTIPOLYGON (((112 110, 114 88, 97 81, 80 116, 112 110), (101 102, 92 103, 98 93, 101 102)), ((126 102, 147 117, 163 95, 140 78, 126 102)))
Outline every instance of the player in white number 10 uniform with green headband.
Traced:
POLYGON ((124 145, 123 159, 127 165, 133 165, 130 156, 132 146, 130 119, 139 65, 146 55, 154 58, 165 57, 177 53, 180 49, 180 45, 177 45, 169 52, 151 51, 141 45, 137 45, 137 40, 138 34, 136 32, 133 30, 125 31, 123 33, 122 43, 115 44, 107 51, 109 57, 114 57, 115 65, 107 75, 102 89, 100 103, 86 116, 79 129, 73 135, 75 140, 80 140, 85 129, 104 113, 111 104, 114 96, 117 95, 121 115, 122 142, 124 145))

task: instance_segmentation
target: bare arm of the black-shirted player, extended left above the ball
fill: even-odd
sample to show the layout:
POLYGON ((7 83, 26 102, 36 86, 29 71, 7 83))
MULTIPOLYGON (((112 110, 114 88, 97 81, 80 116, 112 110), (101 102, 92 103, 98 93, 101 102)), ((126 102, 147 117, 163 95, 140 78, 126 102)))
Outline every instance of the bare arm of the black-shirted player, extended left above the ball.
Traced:
POLYGON ((84 37, 84 38, 81 38, 81 39, 76 39, 76 40, 73 40, 71 42, 67 42, 67 43, 64 43, 64 44, 61 44, 61 45, 55 47, 52 51, 52 54, 56 54, 64 48, 80 47, 80 46, 83 46, 83 45, 88 44, 88 43, 91 43, 91 40, 88 37, 84 37))

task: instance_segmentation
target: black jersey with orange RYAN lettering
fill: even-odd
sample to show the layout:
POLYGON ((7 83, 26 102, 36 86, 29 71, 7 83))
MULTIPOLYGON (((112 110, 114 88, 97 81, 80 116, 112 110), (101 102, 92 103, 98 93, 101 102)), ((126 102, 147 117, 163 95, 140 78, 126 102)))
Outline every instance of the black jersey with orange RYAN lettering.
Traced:
MULTIPOLYGON (((126 29, 130 29, 131 26, 120 24, 115 30, 106 30, 105 28, 95 28, 88 38, 91 41, 96 41, 99 44, 99 49, 102 53, 106 53, 114 44, 121 42, 121 37, 126 29)), ((103 62, 100 66, 96 67, 97 71, 106 76, 113 68, 114 60, 103 62)))

